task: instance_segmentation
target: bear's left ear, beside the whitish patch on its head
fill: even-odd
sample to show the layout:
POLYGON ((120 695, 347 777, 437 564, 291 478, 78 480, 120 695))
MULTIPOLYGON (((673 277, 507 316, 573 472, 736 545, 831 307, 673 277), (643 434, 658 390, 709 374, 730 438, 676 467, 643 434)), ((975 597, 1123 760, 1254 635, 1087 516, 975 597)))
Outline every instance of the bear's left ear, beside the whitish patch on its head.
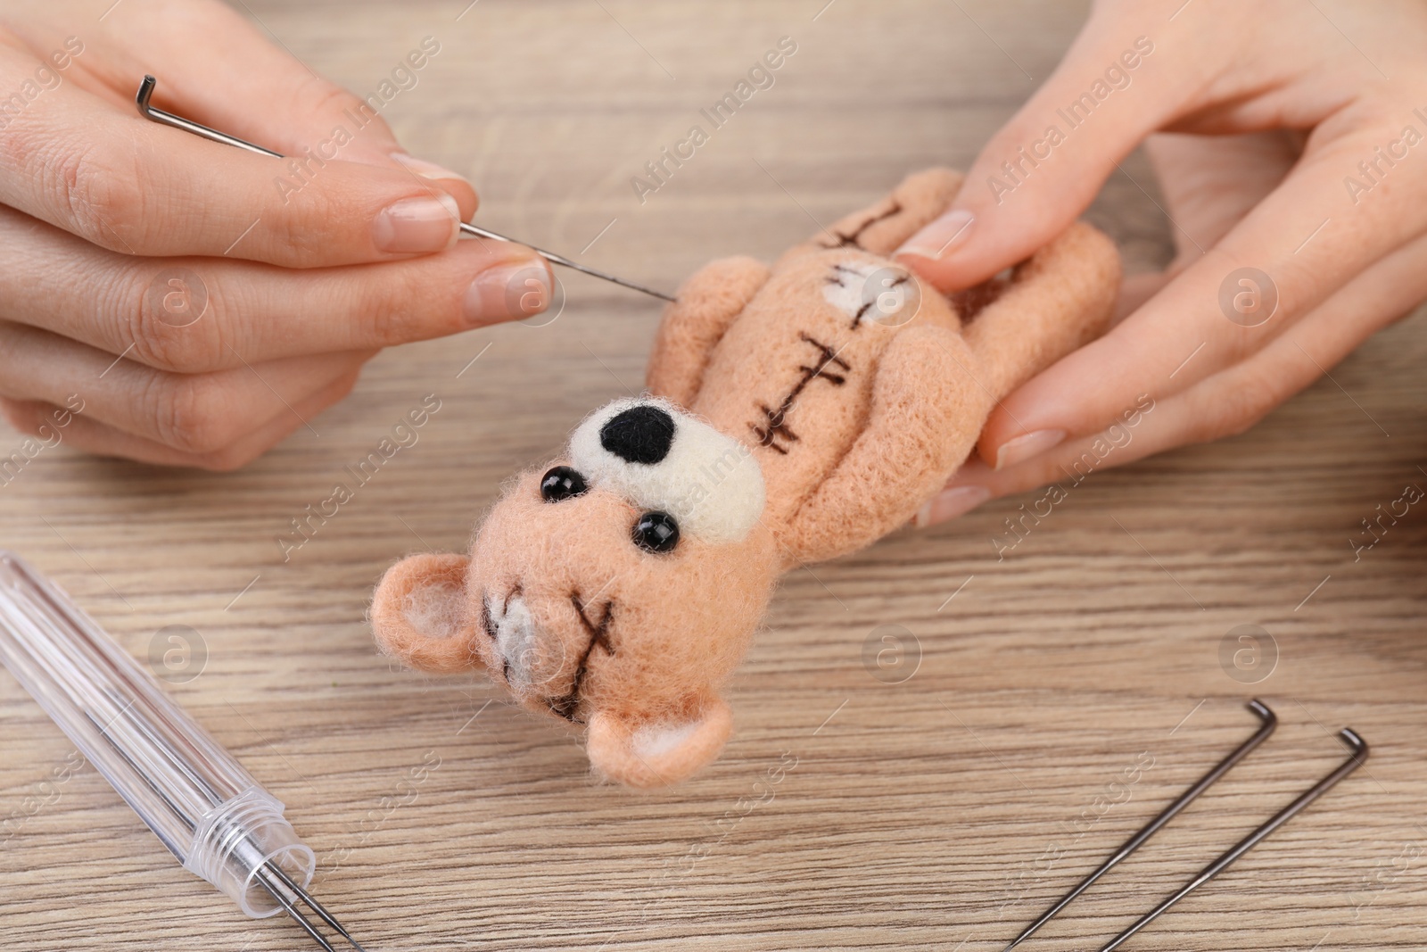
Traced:
POLYGON ((431 552, 397 562, 371 601, 371 627, 384 654, 432 674, 479 667, 465 595, 465 555, 431 552))

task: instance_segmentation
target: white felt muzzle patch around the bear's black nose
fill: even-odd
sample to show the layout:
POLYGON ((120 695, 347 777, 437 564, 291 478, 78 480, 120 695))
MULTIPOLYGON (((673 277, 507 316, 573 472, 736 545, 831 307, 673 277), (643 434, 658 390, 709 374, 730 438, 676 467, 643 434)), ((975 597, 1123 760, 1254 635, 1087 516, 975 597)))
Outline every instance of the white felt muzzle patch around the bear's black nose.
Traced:
POLYGON ((753 451, 666 400, 616 400, 596 410, 571 435, 569 462, 592 485, 668 512, 681 532, 716 545, 742 541, 763 514, 763 471, 753 451), (674 418, 674 442, 659 462, 628 462, 599 444, 605 422, 636 405, 674 418))

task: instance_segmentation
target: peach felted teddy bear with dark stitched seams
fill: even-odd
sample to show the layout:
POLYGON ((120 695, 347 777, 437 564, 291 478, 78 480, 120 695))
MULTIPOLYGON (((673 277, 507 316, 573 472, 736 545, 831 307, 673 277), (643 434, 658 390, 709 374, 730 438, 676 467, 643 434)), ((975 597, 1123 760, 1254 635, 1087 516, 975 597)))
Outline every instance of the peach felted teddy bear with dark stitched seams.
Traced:
POLYGON ((596 772, 631 786, 718 756, 719 692, 778 577, 906 524, 996 401, 1110 320, 1119 255, 1086 224, 952 297, 893 263, 959 186, 922 171, 772 268, 695 273, 664 314, 646 395, 596 410, 517 477, 468 555, 387 571, 381 648, 484 669, 584 725, 596 772))

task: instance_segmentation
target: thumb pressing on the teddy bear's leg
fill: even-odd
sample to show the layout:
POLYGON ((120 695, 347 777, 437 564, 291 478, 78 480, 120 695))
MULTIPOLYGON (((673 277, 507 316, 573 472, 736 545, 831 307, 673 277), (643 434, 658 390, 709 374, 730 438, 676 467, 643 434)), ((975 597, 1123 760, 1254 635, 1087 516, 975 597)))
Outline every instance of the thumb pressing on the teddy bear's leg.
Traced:
POLYGON ((1122 11, 1092 17, 1055 74, 996 133, 956 200, 895 257, 942 291, 1023 261, 1095 200, 1116 164, 1174 108, 1180 81, 1122 11))

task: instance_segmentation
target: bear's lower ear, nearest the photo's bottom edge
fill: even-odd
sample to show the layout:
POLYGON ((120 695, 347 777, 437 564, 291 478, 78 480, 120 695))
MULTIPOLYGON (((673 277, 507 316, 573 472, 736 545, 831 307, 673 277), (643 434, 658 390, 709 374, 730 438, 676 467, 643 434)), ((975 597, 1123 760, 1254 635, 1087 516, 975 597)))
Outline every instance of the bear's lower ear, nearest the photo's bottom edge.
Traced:
POLYGON ((598 712, 589 721, 586 752, 601 775, 626 786, 669 786, 709 764, 733 731, 722 698, 708 698, 689 718, 632 722, 598 712))

